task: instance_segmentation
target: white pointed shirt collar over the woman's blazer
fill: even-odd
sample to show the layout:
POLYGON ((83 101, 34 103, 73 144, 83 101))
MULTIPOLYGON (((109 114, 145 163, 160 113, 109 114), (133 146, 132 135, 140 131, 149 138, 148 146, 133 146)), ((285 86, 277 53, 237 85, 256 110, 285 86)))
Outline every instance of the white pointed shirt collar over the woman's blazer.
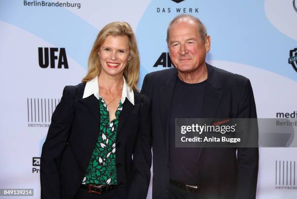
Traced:
MULTIPOLYGON (((131 87, 127 84, 124 76, 123 76, 123 80, 124 80, 124 84, 123 84, 121 102, 122 104, 124 104, 124 101, 127 98, 132 103, 132 105, 134 105, 134 92, 131 89, 131 87)), ((99 100, 98 76, 96 76, 94 79, 86 83, 83 91, 82 99, 92 94, 94 94, 94 96, 99 100)))

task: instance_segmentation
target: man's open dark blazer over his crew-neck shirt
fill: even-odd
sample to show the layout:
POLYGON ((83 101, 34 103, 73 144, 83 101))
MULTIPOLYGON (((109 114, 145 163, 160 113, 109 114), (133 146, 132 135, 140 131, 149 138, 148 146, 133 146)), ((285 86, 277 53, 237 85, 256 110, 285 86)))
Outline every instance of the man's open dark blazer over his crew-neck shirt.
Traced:
MULTIPOLYGON (((246 77, 209 64, 207 69, 202 118, 257 117, 253 91, 246 77)), ((151 100, 153 199, 168 199, 168 128, 176 78, 175 68, 148 73, 141 90, 151 100)), ((197 159, 201 199, 255 198, 258 148, 200 148, 197 159)))

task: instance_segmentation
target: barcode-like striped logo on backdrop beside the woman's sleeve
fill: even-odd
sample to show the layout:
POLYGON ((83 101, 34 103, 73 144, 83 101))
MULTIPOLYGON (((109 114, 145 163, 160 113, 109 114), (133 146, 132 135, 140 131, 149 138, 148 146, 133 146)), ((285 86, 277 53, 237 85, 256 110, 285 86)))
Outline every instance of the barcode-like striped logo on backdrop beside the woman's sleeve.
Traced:
POLYGON ((49 127, 59 102, 55 98, 27 98, 28 127, 49 127))

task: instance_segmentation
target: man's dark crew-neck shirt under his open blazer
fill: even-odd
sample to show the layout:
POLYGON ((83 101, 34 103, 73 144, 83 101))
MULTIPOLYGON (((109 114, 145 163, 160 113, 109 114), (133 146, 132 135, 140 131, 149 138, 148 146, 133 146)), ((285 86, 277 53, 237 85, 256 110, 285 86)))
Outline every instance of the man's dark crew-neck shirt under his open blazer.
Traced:
POLYGON ((199 148, 175 147, 175 118, 200 118, 205 82, 188 84, 177 78, 170 109, 169 171, 170 179, 183 183, 198 183, 199 148))

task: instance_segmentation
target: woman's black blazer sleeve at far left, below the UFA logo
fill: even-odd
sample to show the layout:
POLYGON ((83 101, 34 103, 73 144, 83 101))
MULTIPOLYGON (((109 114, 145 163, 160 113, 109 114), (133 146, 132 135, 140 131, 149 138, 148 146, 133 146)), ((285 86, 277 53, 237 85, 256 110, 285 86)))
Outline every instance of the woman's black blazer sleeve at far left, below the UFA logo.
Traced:
MULTIPOLYGON (((70 87, 65 87, 60 103, 51 117, 48 135, 42 147, 40 162, 41 199, 60 199, 60 159, 71 130, 70 87)), ((72 102, 73 104, 73 102, 72 102)), ((73 107, 72 107, 73 108, 73 107)))

